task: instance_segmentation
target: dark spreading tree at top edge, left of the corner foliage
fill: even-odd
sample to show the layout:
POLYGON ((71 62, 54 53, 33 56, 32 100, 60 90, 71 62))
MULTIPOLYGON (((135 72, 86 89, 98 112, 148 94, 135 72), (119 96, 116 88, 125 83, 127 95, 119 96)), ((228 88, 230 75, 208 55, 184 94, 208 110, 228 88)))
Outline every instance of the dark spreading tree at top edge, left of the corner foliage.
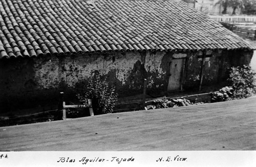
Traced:
POLYGON ((220 4, 223 7, 222 14, 227 14, 227 8, 231 7, 233 9, 232 15, 236 14, 238 8, 243 9, 243 0, 219 0, 215 5, 220 4))

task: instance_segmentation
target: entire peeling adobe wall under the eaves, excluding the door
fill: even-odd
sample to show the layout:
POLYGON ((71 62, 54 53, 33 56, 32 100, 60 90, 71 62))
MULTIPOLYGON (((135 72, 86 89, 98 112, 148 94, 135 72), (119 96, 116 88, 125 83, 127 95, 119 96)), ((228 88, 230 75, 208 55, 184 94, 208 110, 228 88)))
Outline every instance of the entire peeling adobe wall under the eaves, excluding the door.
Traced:
MULTIPOLYGON (((186 53, 183 88, 199 85, 201 59, 186 53)), ((59 57, 12 58, 0 60, 0 112, 29 107, 56 107, 59 92, 73 101, 92 72, 99 72, 115 85, 120 97, 143 92, 166 93, 172 52, 127 52, 112 54, 62 55, 59 57)), ((251 52, 212 52, 205 63, 203 84, 227 76, 227 67, 248 63, 251 52), (224 55, 223 57, 221 55, 224 55)), ((74 101, 73 101, 74 102, 74 101)), ((1 114, 0 113, 0 114, 1 114)))

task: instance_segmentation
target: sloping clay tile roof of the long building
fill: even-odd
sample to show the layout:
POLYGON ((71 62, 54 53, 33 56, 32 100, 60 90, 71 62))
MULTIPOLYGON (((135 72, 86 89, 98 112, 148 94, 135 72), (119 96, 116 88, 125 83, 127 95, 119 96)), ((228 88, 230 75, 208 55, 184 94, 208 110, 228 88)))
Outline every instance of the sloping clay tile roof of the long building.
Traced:
POLYGON ((179 0, 0 0, 0 59, 144 50, 255 49, 179 0))

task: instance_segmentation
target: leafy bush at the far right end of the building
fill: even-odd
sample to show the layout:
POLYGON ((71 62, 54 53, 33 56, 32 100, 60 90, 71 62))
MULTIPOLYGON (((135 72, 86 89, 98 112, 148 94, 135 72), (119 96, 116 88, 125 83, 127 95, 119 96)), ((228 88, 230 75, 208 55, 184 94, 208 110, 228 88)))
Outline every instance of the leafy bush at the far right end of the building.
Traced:
POLYGON ((256 93, 255 72, 249 66, 231 67, 229 84, 233 88, 233 98, 247 98, 256 93))

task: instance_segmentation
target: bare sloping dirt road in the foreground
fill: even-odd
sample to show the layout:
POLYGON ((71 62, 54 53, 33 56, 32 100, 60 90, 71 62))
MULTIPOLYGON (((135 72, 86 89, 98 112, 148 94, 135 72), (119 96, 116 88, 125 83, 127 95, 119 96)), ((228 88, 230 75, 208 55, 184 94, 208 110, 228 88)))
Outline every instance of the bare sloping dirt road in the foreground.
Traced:
POLYGON ((0 148, 39 151, 256 150, 256 97, 0 128, 0 148))

